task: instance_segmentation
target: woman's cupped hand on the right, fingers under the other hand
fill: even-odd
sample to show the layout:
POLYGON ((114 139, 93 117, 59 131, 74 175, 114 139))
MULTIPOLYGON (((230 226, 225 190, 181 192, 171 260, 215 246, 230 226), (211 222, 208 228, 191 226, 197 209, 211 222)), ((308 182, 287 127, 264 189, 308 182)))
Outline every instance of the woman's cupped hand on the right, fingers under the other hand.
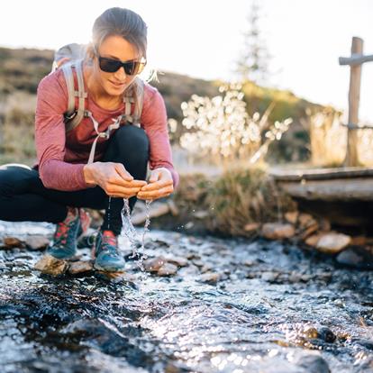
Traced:
POLYGON ((169 196, 174 191, 171 172, 167 168, 156 168, 151 171, 148 184, 141 187, 137 194, 139 199, 158 199, 169 196))

